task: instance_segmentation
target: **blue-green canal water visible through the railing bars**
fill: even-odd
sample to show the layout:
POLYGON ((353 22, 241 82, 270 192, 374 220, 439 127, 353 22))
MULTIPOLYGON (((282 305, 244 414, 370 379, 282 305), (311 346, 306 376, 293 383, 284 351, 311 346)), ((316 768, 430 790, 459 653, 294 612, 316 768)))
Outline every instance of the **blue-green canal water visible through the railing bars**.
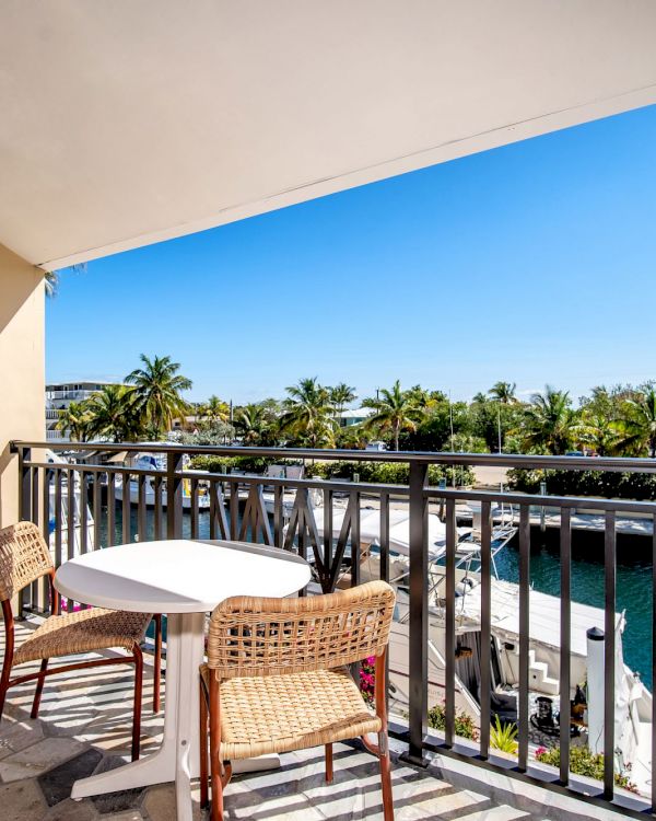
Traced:
MULTIPOLYGON (((122 542, 122 516, 116 506, 115 544, 122 542)), ((137 508, 130 514, 130 533, 137 533, 137 508)), ((166 532, 163 520, 162 533, 166 532)), ((191 534, 191 518, 183 517, 183 535, 191 534)), ((101 544, 108 544, 107 510, 103 506, 101 544)), ((210 537, 209 512, 199 513, 198 535, 210 537)), ((154 513, 147 511, 147 537, 154 539, 154 513)), ((626 627, 622 639, 624 660, 652 690, 652 540, 618 534, 617 610, 624 611, 626 627)), ((541 533, 531 529, 530 580, 536 590, 560 594, 559 531, 541 533)), ((519 581, 518 540, 515 537, 496 555, 500 578, 519 581)), ((604 608, 604 534, 572 531, 572 600, 604 608)))

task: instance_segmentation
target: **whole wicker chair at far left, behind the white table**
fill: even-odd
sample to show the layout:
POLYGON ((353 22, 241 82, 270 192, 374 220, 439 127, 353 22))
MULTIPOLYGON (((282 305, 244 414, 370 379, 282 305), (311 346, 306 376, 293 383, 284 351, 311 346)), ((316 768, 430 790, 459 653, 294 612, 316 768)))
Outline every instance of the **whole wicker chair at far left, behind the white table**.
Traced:
MULTIPOLYGON (((54 587, 55 568, 50 552, 36 524, 20 522, 0 530, 0 602, 4 617, 4 659, 0 673, 0 719, 9 687, 36 681, 36 692, 32 704, 32 718, 38 716, 44 681, 47 675, 79 670, 101 664, 134 664, 134 706, 132 717, 132 761, 139 758, 139 736, 141 732, 141 698, 143 682, 143 657, 140 643, 152 615, 148 613, 126 613, 122 611, 91 608, 74 613, 60 614, 59 594, 54 587), (24 587, 44 576, 49 578, 51 616, 32 633, 23 644, 14 649, 14 618, 12 598, 24 587), (114 647, 124 648, 129 655, 117 658, 79 661, 48 669, 50 658, 72 656, 114 647), (27 661, 40 659, 40 670, 34 673, 11 677, 12 668, 27 661)), ((160 621, 155 647, 161 652, 160 621)), ((159 652, 155 659, 154 708, 159 709, 159 652)))

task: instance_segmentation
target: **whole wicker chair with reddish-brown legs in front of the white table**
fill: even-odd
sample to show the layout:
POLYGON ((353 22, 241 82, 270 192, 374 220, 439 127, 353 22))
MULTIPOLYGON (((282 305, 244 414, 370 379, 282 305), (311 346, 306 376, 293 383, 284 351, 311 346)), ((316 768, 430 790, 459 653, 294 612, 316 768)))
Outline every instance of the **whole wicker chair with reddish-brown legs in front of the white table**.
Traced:
POLYGON ((214 610, 200 668, 201 806, 209 803, 209 722, 212 821, 223 821, 231 761, 323 744, 331 782, 332 743, 356 737, 378 756, 385 821, 393 821, 385 657, 394 602, 389 585, 372 581, 309 598, 237 597, 214 610), (375 712, 347 667, 370 656, 375 712))

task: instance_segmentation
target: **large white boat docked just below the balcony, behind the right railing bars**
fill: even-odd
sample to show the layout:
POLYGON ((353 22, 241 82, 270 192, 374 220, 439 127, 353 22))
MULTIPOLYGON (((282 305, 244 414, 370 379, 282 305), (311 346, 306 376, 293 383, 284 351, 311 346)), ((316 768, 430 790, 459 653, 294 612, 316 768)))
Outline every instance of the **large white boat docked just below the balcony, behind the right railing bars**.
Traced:
MULTIPOLYGON (((494 551, 494 546, 493 546, 494 551)), ((408 624, 410 611, 409 565, 405 556, 393 556, 397 608, 390 637, 390 709, 407 713, 409 704, 408 624), (402 576, 406 564, 406 575, 402 576)), ((362 581, 380 578, 379 554, 362 554, 362 581)), ((481 579, 480 567, 465 563, 456 568, 456 709, 480 727, 481 675, 481 579)), ((446 568, 431 563, 429 590, 429 708, 444 702, 446 568)), ((530 752, 559 738, 560 598, 529 591, 529 714, 530 752)), ((652 694, 623 660, 623 613, 616 613, 616 772, 629 776, 639 793, 651 791, 652 694)), ((604 637, 605 613, 571 602, 571 692, 564 708, 571 716, 572 733, 594 752, 602 749, 604 652, 589 634, 604 637)), ((519 586, 491 577, 491 708, 500 721, 517 720, 519 691, 519 586)), ((600 645, 602 648, 602 644, 600 645)))

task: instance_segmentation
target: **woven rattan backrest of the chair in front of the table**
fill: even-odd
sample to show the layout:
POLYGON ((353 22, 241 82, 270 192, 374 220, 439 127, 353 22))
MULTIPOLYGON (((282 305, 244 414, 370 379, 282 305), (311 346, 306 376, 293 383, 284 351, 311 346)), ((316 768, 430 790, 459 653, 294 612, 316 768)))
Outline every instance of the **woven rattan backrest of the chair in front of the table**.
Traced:
POLYGON ((210 620, 208 667, 219 679, 283 675, 379 656, 394 603, 384 581, 302 599, 226 599, 210 620))

